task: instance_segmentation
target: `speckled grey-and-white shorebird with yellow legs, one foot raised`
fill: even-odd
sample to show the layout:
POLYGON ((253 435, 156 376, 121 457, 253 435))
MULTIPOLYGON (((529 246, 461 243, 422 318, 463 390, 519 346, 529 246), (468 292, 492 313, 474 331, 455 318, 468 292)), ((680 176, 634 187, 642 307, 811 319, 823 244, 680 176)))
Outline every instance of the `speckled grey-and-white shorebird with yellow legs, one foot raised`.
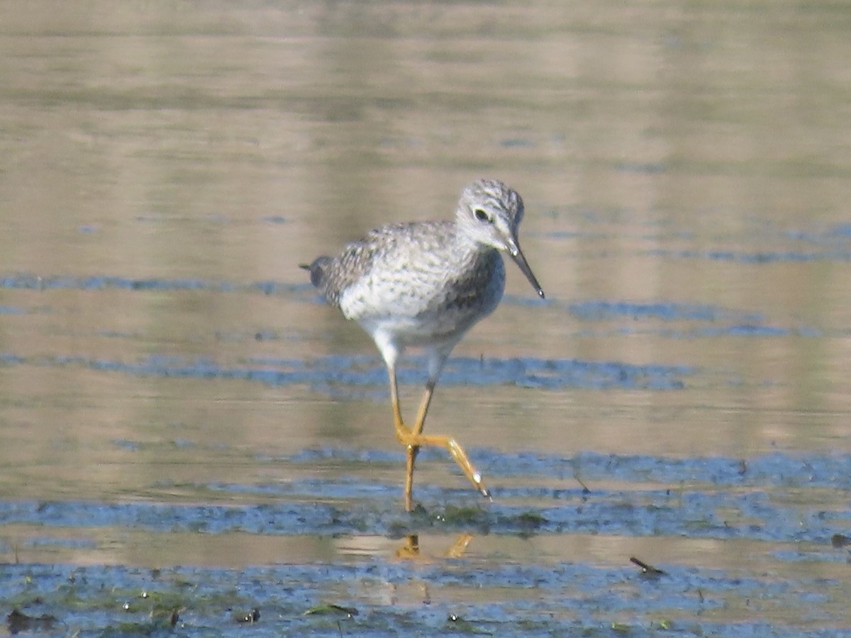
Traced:
POLYGON ((490 497, 482 475, 450 436, 423 434, 431 396, 443 363, 473 324, 494 311, 505 289, 508 253, 544 297, 529 268, 517 230, 523 199, 496 179, 479 179, 461 193, 454 221, 386 225, 352 242, 337 257, 318 257, 302 268, 311 282, 373 338, 390 375, 396 438, 407 452, 405 509, 411 510, 414 462, 424 445, 445 447, 465 476, 490 497), (406 347, 428 360, 426 391, 414 427, 404 424, 396 366, 406 347))

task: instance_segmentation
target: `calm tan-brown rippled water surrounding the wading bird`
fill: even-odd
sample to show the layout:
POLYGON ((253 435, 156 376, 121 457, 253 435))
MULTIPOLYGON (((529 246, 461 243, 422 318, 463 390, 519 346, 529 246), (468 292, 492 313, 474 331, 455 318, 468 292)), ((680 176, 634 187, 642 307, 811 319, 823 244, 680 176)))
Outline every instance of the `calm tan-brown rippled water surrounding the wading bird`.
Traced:
MULTIPOLYGON (((575 489, 556 461, 582 453, 844 459, 849 29, 851 5, 787 0, 0 4, 4 501, 274 504, 257 490, 354 476, 397 507, 377 352, 298 264, 376 225, 448 218, 479 176, 523 195, 547 300, 508 265, 506 299, 455 349, 465 365, 450 363, 428 430, 495 455, 493 469, 500 454, 553 461, 496 476, 498 501, 518 484, 575 489), (521 371, 482 381, 477 361, 521 371), (603 381, 581 368, 608 364, 603 381)), ((426 490, 426 508, 476 504, 440 454, 417 486, 453 491, 426 490)), ((629 500, 645 486, 590 487, 629 500)), ((357 503, 340 490, 318 499, 357 503)), ((780 498, 842 512, 848 486, 780 498)), ((333 563, 395 544, 6 521, 7 560, 68 565, 333 563), (31 542, 45 534, 89 540, 31 542)), ((848 583, 847 566, 789 567, 758 539, 664 529, 485 535, 470 551, 848 583)))

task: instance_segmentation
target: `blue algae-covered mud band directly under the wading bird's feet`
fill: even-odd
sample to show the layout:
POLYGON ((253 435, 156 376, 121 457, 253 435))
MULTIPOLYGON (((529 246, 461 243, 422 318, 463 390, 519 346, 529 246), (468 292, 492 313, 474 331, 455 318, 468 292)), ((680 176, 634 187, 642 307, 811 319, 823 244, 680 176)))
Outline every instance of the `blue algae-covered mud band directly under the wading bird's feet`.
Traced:
MULTIPOLYGON (((474 451, 494 493, 494 503, 467 487, 418 485, 425 504, 412 514, 398 510, 397 485, 374 480, 357 464, 400 463, 399 455, 354 451, 307 451, 270 463, 293 469, 339 464, 334 480, 315 477, 259 485, 213 482, 201 493, 254 494, 271 503, 157 504, 89 501, 0 501, 0 525, 44 527, 133 527, 159 532, 340 534, 471 532, 497 534, 601 534, 621 537, 672 536, 750 539, 761 542, 829 545, 848 529, 847 510, 824 497, 802 495, 793 504, 779 490, 825 487, 836 504, 851 493, 851 458, 775 454, 748 461, 616 457, 583 454, 547 459, 474 451), (352 465, 348 461, 355 464, 352 465), (483 463, 481 463, 483 461, 483 463), (574 468, 589 487, 519 485, 505 476, 546 476, 563 483, 574 468), (625 487, 597 488, 597 479, 625 487), (629 487, 631 484, 658 487, 629 487)), ((429 457, 424 456, 424 459, 429 457)), ((445 460, 445 459, 444 459, 445 460)), ((327 474, 327 472, 325 473, 327 474)), ((524 481, 521 481, 524 482, 524 481)))

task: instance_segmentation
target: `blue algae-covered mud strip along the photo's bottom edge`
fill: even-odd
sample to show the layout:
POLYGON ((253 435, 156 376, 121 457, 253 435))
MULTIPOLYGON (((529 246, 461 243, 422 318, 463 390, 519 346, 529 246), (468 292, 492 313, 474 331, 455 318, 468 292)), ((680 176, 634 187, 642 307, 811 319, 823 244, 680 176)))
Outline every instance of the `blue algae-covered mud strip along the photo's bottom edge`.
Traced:
POLYGON ((800 600, 800 592, 841 595, 841 583, 662 567, 665 577, 651 582, 618 565, 463 558, 364 557, 237 569, 22 564, 4 569, 0 594, 30 602, 33 614, 47 610, 63 635, 848 635, 837 629, 823 598, 800 600), (399 604, 395 595, 388 602, 381 593, 414 587, 432 592, 434 600, 429 595, 419 604, 399 604), (757 611, 724 611, 731 601, 747 600, 757 611), (802 632, 788 620, 800 613, 768 622, 757 601, 801 612, 806 607, 811 622, 829 629, 802 632), (351 613, 312 612, 331 605, 351 613), (168 624, 171 607, 179 610, 177 627, 168 624), (235 610, 250 608, 259 610, 250 626, 232 619, 235 610))

